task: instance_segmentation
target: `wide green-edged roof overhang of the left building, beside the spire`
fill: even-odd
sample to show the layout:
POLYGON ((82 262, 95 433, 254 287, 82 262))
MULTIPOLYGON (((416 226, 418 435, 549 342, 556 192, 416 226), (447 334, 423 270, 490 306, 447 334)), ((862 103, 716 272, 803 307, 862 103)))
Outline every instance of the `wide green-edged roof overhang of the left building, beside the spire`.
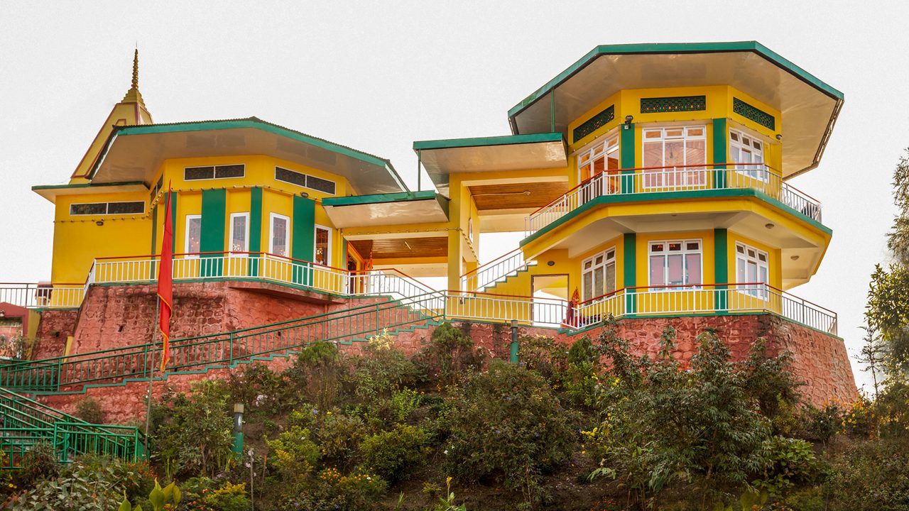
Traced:
POLYGON ((92 169, 93 183, 150 183, 170 158, 271 155, 347 179, 360 194, 406 191, 391 162, 261 119, 116 126, 92 169))

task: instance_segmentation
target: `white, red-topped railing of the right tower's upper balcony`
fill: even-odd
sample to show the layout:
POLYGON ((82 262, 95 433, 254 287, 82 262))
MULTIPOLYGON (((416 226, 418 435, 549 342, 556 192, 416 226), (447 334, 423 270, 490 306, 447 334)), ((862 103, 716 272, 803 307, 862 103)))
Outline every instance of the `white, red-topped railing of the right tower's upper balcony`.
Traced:
POLYGON ((527 216, 525 234, 533 235, 600 196, 717 189, 756 190, 812 220, 821 221, 821 203, 784 182, 783 177, 764 164, 680 165, 624 169, 594 175, 527 216))

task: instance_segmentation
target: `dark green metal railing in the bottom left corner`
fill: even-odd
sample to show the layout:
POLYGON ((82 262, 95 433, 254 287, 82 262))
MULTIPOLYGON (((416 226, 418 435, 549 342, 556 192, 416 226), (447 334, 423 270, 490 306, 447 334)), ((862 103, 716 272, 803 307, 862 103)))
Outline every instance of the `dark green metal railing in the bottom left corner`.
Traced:
POLYGON ((3 468, 18 467, 22 456, 42 442, 54 447, 61 463, 84 454, 127 460, 145 457, 145 438, 134 426, 89 424, 5 388, 0 388, 0 416, 0 450, 6 454, 3 468))

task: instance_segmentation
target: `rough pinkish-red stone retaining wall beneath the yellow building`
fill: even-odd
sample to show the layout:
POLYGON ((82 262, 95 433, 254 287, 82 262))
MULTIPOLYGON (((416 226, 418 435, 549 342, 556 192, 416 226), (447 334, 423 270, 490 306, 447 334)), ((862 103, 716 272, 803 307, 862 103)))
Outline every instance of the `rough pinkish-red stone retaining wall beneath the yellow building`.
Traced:
MULTIPOLYGON (((272 289, 257 286, 231 286, 231 283, 186 283, 175 286, 175 316, 172 336, 199 336, 216 334, 239 328, 262 326, 269 323, 314 316, 352 306, 377 304, 383 299, 351 299, 316 303, 318 296, 306 294, 288 296, 280 286, 272 289)), ((415 316, 396 318, 405 322, 415 316)), ((455 326, 474 339, 476 346, 487 354, 507 358, 511 343, 511 328, 503 324, 456 322, 455 326)), ((75 328, 74 353, 85 353, 118 346, 132 346, 148 342, 155 326, 155 289, 153 286, 92 286, 85 304, 78 312, 47 311, 39 326, 39 343, 35 357, 57 356, 63 352, 66 328, 75 328), (77 325, 77 326, 76 326, 77 325), (59 337, 49 336, 60 331, 59 337)), ((842 339, 795 325, 771 315, 751 316, 688 316, 662 318, 633 318, 619 322, 618 335, 628 340, 634 353, 655 356, 660 335, 665 326, 676 330, 677 356, 687 363, 694 354, 696 337, 705 329, 713 329, 730 347, 734 359, 741 360, 759 336, 767 340, 771 355, 789 350, 794 356, 793 372, 807 382, 802 387, 806 399, 815 404, 837 398, 851 401, 857 396, 852 368, 842 339)), ((365 325, 366 329, 379 330, 380 325, 365 325)), ((395 335, 395 345, 408 355, 414 354, 432 335, 435 326, 416 327, 395 335)), ((586 333, 600 334, 600 328, 586 333)), ((567 336, 549 328, 522 326, 521 336, 553 336, 559 342, 573 343, 578 337, 567 336)), ((365 336, 364 336, 365 337, 365 336)), ((348 353, 360 353, 364 343, 341 345, 348 353)), ((289 361, 276 358, 266 364, 275 370, 285 368, 289 361)), ((168 376, 166 384, 177 391, 189 389, 190 383, 199 379, 226 378, 231 369, 209 371, 205 375, 168 376)), ((131 382, 125 386, 90 388, 88 396, 98 399, 107 414, 106 420, 128 424, 141 421, 145 416, 142 398, 147 383, 131 382)), ((158 393, 156 387, 156 393, 158 393)), ((71 411, 83 396, 43 396, 41 400, 51 406, 71 411)))

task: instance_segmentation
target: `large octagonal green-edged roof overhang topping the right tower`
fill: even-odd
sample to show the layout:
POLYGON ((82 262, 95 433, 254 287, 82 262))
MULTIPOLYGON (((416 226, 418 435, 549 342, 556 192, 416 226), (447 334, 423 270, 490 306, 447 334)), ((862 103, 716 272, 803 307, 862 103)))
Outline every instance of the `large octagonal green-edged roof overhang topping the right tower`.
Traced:
POLYGON ((844 95, 755 41, 601 45, 508 111, 514 135, 567 133, 624 89, 732 85, 782 112, 783 175, 820 163, 844 95), (554 112, 554 119, 552 112, 554 112))

